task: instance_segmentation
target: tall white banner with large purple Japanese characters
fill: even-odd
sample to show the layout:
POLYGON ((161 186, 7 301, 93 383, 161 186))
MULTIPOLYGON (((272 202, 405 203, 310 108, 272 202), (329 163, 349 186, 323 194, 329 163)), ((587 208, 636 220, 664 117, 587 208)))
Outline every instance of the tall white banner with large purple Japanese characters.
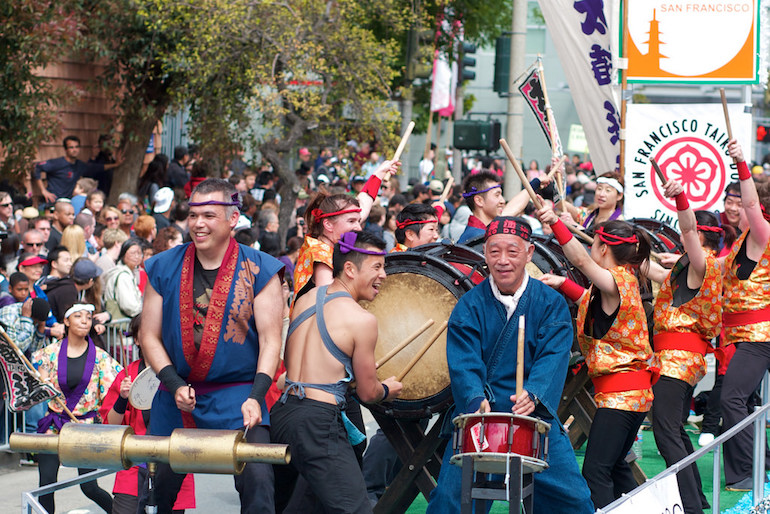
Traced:
MULTIPOLYGON (((539 0, 598 173, 620 164, 620 109, 612 95, 609 12, 603 0, 539 0)), ((607 6, 609 7, 609 5, 607 6)))

